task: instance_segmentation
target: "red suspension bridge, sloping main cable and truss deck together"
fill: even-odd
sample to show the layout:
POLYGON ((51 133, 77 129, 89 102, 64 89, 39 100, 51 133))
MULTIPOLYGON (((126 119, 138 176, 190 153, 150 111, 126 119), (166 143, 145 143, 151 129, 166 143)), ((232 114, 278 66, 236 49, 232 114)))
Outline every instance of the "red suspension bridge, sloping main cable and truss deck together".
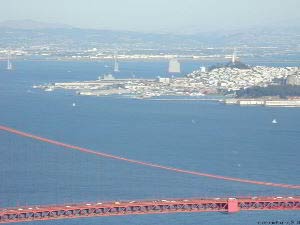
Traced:
MULTIPOLYGON (((104 152, 91 150, 63 142, 51 140, 41 136, 19 131, 10 127, 1 126, 0 130, 26 138, 35 139, 45 143, 53 144, 69 150, 76 150, 100 157, 111 158, 128 163, 153 167, 177 173, 191 174, 201 177, 241 182, 255 185, 273 186, 287 189, 300 189, 300 185, 271 183, 236 177, 227 177, 175 167, 128 159, 121 156, 111 155, 104 152)), ((54 220, 66 218, 81 218, 94 216, 117 216, 138 214, 161 214, 178 212, 238 212, 240 210, 300 210, 300 197, 240 197, 240 198, 206 198, 206 199, 169 199, 151 201, 130 202, 107 202, 107 203, 85 203, 55 206, 32 206, 17 208, 0 208, 0 223, 25 222, 34 220, 54 220)))

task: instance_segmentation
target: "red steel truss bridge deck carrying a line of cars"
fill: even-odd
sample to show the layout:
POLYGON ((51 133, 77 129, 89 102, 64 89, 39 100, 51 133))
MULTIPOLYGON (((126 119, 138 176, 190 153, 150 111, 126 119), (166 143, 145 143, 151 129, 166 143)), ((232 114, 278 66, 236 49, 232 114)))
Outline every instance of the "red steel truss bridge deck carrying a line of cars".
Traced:
POLYGON ((0 224, 100 216, 253 210, 300 210, 300 196, 141 200, 0 208, 0 224))

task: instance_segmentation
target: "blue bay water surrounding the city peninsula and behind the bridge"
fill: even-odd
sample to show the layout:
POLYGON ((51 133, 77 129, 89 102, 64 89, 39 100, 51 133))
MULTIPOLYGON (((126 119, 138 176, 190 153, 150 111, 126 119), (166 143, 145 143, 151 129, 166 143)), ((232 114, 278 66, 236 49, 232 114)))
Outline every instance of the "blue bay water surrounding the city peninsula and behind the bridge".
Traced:
MULTIPOLYGON (((300 183, 300 109, 147 101, 44 92, 33 85, 96 79, 105 62, 0 63, 0 124, 58 141, 166 166, 275 183, 300 183), (76 103, 76 107, 72 103, 76 103), (271 121, 276 118, 278 124, 271 121)), ((185 63, 184 72, 201 64, 185 63)), ((164 76, 164 62, 121 62, 118 77, 164 76)), ((299 195, 146 168, 0 131, 0 207, 219 196, 299 195)), ((257 224, 298 212, 194 213, 24 224, 257 224)))

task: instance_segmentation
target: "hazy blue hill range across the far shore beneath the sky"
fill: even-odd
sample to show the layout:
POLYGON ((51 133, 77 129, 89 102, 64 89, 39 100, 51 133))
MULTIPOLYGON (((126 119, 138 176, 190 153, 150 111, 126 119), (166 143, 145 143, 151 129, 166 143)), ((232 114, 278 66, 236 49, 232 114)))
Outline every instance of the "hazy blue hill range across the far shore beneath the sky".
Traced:
MULTIPOLYGON (((298 60, 299 36, 299 27, 162 34, 82 29, 32 20, 0 22, 0 48, 51 46, 52 49, 63 49, 64 54, 66 51, 98 48, 104 52, 119 49, 123 53, 130 50, 136 54, 210 55, 217 58, 228 56, 233 48, 237 48, 243 59, 272 56, 298 60)), ((245 68, 245 65, 227 66, 245 68)))

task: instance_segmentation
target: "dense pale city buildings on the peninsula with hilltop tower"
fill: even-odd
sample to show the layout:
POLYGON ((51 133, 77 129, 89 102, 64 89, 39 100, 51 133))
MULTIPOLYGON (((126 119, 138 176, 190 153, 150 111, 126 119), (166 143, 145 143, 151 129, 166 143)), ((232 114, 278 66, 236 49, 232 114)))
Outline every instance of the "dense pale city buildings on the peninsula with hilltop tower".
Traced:
MULTIPOLYGON (((177 62, 176 62, 177 63, 177 62)), ((174 71, 173 71, 174 72, 174 71)), ((250 67, 232 57, 230 63, 200 68, 184 77, 158 77, 157 79, 115 79, 107 74, 99 80, 71 83, 54 83, 36 86, 46 91, 55 89, 76 90, 80 95, 125 95, 134 98, 158 96, 203 96, 225 94, 250 87, 277 85, 278 80, 297 84, 297 67, 250 67)))

